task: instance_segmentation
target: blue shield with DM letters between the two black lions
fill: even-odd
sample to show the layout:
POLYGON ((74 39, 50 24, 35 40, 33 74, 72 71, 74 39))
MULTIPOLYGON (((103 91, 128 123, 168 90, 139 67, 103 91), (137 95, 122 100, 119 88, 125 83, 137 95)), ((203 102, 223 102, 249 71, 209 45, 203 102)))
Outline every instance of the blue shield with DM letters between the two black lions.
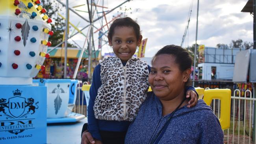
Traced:
POLYGON ((25 98, 15 96, 9 98, 9 112, 15 118, 21 116, 25 111, 25 98))

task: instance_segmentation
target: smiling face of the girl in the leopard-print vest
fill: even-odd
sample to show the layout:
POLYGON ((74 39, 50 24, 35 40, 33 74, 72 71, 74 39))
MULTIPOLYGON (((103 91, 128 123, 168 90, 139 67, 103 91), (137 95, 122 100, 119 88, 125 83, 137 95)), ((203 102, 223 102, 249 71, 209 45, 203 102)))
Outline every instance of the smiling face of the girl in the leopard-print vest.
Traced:
POLYGON ((139 40, 135 35, 132 27, 122 26, 116 27, 113 37, 108 38, 110 46, 113 46, 113 51, 121 61, 128 61, 135 53, 137 46, 141 44, 142 36, 139 40))

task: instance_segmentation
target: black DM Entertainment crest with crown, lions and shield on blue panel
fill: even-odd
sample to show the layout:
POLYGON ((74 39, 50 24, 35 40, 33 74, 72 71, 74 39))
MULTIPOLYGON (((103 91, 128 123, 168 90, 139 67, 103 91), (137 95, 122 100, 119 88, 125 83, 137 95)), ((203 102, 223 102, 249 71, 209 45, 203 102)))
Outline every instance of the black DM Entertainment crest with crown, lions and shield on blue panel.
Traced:
POLYGON ((13 97, 8 99, 0 98, 0 118, 5 117, 6 121, 0 121, 0 132, 8 131, 18 135, 26 129, 34 129, 33 120, 28 114, 34 114, 38 109, 33 98, 23 98, 22 91, 19 89, 13 91, 13 97), (9 110, 9 113, 8 113, 9 110))

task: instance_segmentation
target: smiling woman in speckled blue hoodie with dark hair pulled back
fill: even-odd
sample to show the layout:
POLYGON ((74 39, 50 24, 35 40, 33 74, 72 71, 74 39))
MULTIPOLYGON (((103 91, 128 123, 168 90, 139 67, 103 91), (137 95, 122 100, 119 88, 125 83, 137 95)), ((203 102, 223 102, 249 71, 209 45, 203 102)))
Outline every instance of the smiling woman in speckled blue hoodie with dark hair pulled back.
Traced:
POLYGON ((148 93, 130 125, 126 144, 224 143, 219 120, 203 100, 186 107, 191 65, 189 53, 180 46, 165 46, 156 53, 148 77, 154 93, 148 93))

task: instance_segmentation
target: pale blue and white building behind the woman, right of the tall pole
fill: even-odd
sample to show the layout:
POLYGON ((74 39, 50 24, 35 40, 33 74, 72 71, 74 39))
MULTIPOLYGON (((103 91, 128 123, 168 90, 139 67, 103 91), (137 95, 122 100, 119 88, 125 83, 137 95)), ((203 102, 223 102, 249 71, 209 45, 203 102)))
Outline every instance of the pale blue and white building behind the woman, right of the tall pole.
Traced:
POLYGON ((232 80, 237 48, 199 47, 198 80, 232 80))

